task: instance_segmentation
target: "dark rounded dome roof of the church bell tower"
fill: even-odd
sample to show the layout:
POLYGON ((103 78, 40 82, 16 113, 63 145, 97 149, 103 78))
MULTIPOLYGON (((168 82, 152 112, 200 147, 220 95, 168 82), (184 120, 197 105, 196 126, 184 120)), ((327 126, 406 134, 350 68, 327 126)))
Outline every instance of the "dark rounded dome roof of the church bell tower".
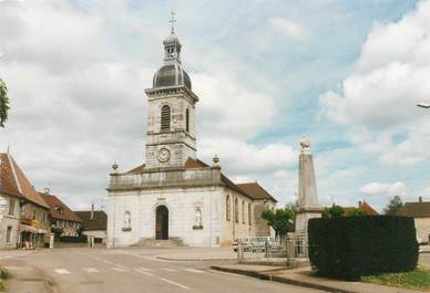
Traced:
POLYGON ((191 91, 191 80, 188 74, 180 64, 163 65, 154 74, 153 88, 184 85, 191 91))

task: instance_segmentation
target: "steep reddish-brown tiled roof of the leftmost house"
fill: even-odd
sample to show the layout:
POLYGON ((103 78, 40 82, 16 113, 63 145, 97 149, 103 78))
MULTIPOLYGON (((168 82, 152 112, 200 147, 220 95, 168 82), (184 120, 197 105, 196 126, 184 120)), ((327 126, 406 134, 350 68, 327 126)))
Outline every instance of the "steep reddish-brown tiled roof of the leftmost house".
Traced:
POLYGON ((10 154, 0 154, 0 192, 24 198, 32 203, 49 209, 48 203, 35 191, 10 154))

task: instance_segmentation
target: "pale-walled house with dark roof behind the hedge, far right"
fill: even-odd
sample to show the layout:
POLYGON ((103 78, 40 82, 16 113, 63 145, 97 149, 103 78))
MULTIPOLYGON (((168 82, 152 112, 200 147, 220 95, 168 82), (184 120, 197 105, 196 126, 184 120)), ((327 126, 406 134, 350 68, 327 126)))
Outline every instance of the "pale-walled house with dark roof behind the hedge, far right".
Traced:
POLYGON ((430 201, 423 201, 422 197, 419 197, 418 201, 406 202, 397 214, 412 217, 416 223, 418 242, 430 242, 430 201))

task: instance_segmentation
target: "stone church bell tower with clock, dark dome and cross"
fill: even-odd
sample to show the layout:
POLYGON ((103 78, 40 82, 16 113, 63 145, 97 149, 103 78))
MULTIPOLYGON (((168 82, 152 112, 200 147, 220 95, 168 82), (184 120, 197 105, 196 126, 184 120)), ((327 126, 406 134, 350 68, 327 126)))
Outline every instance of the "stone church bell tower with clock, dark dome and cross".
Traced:
POLYGON ((196 157, 195 104, 188 74, 181 63, 181 42, 172 30, 164 39, 163 66, 147 95, 146 168, 182 167, 196 157))

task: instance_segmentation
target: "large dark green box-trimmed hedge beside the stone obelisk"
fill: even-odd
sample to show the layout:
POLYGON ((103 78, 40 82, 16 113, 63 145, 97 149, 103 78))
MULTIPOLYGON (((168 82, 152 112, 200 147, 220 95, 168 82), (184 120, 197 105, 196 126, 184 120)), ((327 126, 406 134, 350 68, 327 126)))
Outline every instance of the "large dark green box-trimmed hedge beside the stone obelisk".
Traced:
POLYGON ((320 276, 357 281, 362 275, 417 266, 413 218, 360 216, 310 219, 309 261, 320 276))

